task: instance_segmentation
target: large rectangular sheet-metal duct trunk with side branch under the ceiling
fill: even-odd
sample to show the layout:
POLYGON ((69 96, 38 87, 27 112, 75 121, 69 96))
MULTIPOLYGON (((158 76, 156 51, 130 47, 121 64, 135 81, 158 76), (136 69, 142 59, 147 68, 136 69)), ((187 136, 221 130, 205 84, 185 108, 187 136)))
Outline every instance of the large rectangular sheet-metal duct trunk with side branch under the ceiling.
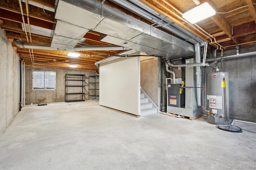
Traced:
MULTIPOLYGON (((79 34, 76 34, 78 37, 75 38, 76 42, 85 32, 94 30, 102 33, 101 41, 103 42, 142 51, 148 55, 164 56, 169 59, 194 55, 194 45, 158 30, 97 0, 59 0, 56 19, 58 20, 57 25, 60 22, 60 24, 65 24, 74 29, 76 27, 73 26, 79 26, 80 31, 79 34), (76 20, 74 20, 74 17, 76 20)), ((53 38, 54 41, 51 46, 72 49, 71 47, 76 42, 71 42, 70 38, 65 38, 65 41, 62 40, 62 36, 66 35, 66 33, 68 34, 67 30, 56 30, 54 36, 60 39, 55 41, 53 38), (65 32, 65 34, 61 33, 59 36, 60 31, 65 32), (53 44, 56 42, 65 42, 65 44, 53 44)))

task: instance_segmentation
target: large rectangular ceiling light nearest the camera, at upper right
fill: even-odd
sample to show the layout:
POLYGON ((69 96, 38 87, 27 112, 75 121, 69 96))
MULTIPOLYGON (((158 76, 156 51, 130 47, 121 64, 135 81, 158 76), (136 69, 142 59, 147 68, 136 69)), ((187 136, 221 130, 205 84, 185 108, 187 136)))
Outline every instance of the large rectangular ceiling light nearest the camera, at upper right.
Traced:
POLYGON ((196 8, 185 12, 184 14, 182 14, 182 17, 191 24, 194 24, 215 14, 215 10, 207 2, 205 2, 197 6, 196 8))

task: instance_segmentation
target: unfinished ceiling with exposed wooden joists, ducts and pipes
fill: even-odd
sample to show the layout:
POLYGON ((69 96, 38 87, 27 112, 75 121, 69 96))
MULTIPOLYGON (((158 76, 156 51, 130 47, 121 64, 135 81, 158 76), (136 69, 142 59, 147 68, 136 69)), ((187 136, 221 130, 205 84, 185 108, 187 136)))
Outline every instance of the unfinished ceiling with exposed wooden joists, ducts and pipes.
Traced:
MULTIPOLYGON (((22 9, 28 30, 24 2, 22 0, 22 9)), ((227 50, 236 48, 236 44, 240 44, 240 47, 256 45, 256 0, 101 2, 102 0, 59 0, 58 3, 54 0, 28 0, 32 43, 66 50, 82 45, 118 45, 168 58, 193 55, 195 42, 208 41, 209 53, 211 48, 227 50), (94 6, 86 4, 91 2, 94 6), (196 24, 188 24, 180 18, 182 13, 203 2, 208 2, 216 12, 224 14, 216 14, 196 24), (150 19, 146 16, 149 13, 154 13, 157 17, 150 19)), ((12 39, 27 42, 20 14, 18 0, 0 1, 0 26, 11 42, 12 39)), ((70 59, 68 51, 33 49, 33 60, 33 56, 30 58, 32 50, 29 53, 29 49, 18 47, 14 42, 12 45, 19 57, 24 59, 26 66, 71 69, 68 66, 76 64, 76 69, 87 71, 97 70, 94 65, 96 61, 122 52, 100 49, 79 51, 79 58, 70 59)))

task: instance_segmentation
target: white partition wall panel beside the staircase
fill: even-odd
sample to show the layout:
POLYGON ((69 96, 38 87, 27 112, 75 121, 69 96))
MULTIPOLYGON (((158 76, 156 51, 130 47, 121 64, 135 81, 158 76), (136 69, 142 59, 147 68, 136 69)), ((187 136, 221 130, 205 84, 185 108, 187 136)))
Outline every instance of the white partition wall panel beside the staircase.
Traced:
POLYGON ((140 115, 140 57, 100 64, 100 105, 140 115))

